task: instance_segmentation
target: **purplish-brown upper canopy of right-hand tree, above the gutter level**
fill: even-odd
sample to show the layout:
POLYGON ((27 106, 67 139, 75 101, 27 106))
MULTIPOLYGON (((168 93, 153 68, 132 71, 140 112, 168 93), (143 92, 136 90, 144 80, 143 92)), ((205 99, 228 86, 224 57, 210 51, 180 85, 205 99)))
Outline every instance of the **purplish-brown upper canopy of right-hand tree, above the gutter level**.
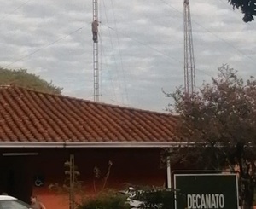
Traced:
POLYGON ((194 96, 177 90, 172 106, 178 113, 183 134, 193 141, 211 143, 256 142, 256 80, 238 78, 228 66, 218 68, 212 84, 202 84, 194 96))

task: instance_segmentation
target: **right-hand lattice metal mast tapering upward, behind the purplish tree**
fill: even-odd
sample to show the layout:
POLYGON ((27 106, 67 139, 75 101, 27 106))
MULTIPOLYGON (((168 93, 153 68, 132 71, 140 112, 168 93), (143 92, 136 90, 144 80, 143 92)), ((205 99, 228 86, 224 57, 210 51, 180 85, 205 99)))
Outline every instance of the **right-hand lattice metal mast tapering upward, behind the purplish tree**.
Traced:
POLYGON ((195 93, 195 59, 189 0, 184 0, 184 86, 185 93, 195 93))

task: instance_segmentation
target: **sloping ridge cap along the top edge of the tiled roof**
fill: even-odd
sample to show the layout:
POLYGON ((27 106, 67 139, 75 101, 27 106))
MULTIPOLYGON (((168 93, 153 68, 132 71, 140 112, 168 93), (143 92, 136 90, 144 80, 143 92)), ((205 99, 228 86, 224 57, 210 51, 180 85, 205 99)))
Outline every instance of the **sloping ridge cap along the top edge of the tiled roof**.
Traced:
MULTIPOLYGON (((96 105, 102 105, 104 107, 117 107, 117 108, 120 108, 120 109, 127 109, 127 110, 130 110, 130 111, 139 111, 139 112, 143 112, 143 113, 156 113, 156 114, 160 114, 160 115, 165 115, 165 116, 168 116, 168 115, 172 115, 172 113, 160 113, 160 112, 156 112, 156 111, 152 111, 152 110, 145 110, 145 109, 140 109, 140 108, 136 108, 136 107, 125 107, 125 106, 119 106, 119 105, 116 105, 116 104, 110 104, 110 103, 106 103, 106 102, 95 102, 95 101, 91 101, 91 100, 86 100, 86 99, 83 99, 83 98, 78 98, 78 97, 74 97, 74 96, 67 96, 67 95, 58 95, 58 94, 55 94, 55 93, 49 93, 49 92, 44 92, 44 91, 40 91, 40 90, 34 90, 32 88, 28 88, 28 87, 25 87, 25 86, 20 86, 20 85, 17 85, 17 84, 5 84, 5 85, 0 85, 0 90, 2 90, 2 88, 4 89, 19 89, 19 90, 28 90, 28 91, 33 91, 37 94, 44 94, 44 95, 49 95, 49 96, 58 96, 60 98, 67 98, 67 99, 72 99, 72 100, 76 100, 76 101, 79 101, 79 102, 90 102, 91 104, 96 104, 96 105)), ((172 115, 174 116, 174 115, 172 115)))

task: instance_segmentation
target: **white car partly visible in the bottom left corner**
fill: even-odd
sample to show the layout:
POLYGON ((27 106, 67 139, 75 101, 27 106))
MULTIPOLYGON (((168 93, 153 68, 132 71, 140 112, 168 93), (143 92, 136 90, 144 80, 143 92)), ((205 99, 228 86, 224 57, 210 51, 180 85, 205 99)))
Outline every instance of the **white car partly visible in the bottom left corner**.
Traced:
POLYGON ((30 209, 25 202, 8 195, 0 195, 0 209, 30 209))

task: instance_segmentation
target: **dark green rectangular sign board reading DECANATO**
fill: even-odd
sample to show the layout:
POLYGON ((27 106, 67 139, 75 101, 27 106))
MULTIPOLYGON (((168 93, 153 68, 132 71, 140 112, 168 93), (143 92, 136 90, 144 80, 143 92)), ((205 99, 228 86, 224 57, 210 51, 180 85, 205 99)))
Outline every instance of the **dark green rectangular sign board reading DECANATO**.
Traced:
POLYGON ((175 209, 237 209, 236 174, 174 174, 175 209))

